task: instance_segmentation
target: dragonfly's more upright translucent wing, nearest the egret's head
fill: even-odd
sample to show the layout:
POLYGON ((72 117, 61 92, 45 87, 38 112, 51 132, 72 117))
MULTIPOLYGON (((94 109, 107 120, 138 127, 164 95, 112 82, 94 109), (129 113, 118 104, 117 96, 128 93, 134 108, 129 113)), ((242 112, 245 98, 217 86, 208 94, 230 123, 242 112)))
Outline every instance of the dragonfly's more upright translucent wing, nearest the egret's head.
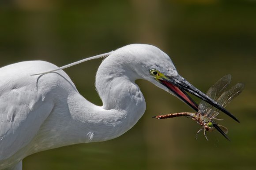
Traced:
MULTIPOLYGON (((223 76, 220 80, 218 80, 212 87, 209 88, 206 95, 217 101, 218 98, 222 95, 222 93, 226 90, 231 81, 231 75, 223 76)), ((212 105, 208 104, 205 101, 201 101, 199 104, 199 113, 202 115, 208 115, 212 109, 214 109, 212 105)))

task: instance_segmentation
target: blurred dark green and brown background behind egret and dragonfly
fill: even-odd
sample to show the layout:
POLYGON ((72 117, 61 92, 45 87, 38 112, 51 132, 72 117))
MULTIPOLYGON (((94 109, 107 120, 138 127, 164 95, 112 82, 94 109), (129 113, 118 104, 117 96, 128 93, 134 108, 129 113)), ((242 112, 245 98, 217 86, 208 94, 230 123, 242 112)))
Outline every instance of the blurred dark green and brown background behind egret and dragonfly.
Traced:
MULTIPOLYGON (((45 60, 58 66, 148 43, 165 51, 178 72, 206 92, 219 78, 244 82, 226 115, 227 141, 218 132, 195 139, 200 126, 188 118, 152 116, 193 112, 149 82, 138 80, 147 110, 131 130, 111 141, 39 152, 24 170, 256 169, 256 1, 255 0, 1 0, 1 66, 45 60), (157 103, 157 106, 156 106, 157 103)), ((102 105, 94 87, 101 60, 65 71, 79 92, 102 105), (88 81, 90 80, 90 81, 88 81)), ((200 100, 196 99, 197 102, 200 100)))

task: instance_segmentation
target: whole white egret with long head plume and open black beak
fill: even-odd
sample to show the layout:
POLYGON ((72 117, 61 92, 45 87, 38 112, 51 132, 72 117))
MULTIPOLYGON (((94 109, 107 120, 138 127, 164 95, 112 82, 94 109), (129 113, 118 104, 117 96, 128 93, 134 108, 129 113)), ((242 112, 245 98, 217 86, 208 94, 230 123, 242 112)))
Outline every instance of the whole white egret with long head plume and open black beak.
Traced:
POLYGON ((182 78, 169 56, 151 45, 131 44, 60 68, 46 61, 19 62, 0 68, 0 169, 21 170, 23 158, 33 153, 124 134, 146 109, 137 79, 197 111, 188 91, 237 120, 182 78), (62 69, 101 57, 95 86, 103 105, 97 106, 79 94, 62 69))

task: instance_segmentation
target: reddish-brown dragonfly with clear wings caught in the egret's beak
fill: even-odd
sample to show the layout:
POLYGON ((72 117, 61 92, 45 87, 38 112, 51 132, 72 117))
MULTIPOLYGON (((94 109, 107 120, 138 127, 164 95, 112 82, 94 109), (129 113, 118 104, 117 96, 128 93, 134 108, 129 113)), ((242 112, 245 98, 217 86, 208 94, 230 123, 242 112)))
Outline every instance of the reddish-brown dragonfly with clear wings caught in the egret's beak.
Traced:
MULTIPOLYGON (((213 86, 209 88, 206 95, 212 98, 213 100, 217 101, 221 106, 226 107, 235 97, 241 94, 242 90, 244 89, 245 85, 243 83, 237 83, 230 89, 228 86, 231 82, 231 75, 223 76, 220 80, 218 80, 213 86)), ((208 141, 206 132, 211 132, 214 129, 218 130, 227 140, 230 141, 229 137, 226 135, 228 133, 228 129, 222 125, 216 123, 216 120, 223 120, 218 119, 216 116, 221 111, 213 107, 212 105, 208 104, 205 101, 201 101, 198 106, 198 112, 181 112, 181 113, 171 113, 167 115, 159 115, 154 116, 155 119, 167 119, 173 117, 180 117, 186 116, 190 117, 195 120, 202 128, 196 133, 197 135, 200 131, 204 130, 204 136, 208 141)))

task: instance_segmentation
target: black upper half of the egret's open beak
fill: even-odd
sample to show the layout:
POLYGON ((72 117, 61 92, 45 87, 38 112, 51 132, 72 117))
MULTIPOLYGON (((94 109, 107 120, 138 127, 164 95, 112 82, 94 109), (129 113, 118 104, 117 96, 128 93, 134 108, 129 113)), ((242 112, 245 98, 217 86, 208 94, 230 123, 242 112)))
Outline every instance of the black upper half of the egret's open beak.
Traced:
MULTIPOLYGON (((224 107, 222 107, 221 105, 219 105, 216 101, 214 101, 213 99, 211 99, 210 97, 208 97, 206 94, 203 94, 203 92, 201 92, 200 90, 198 90, 196 87, 194 87, 192 84, 188 83, 187 80, 185 80, 183 77, 181 77, 180 75, 178 76, 166 76, 168 78, 168 80, 164 80, 167 81, 169 83, 172 83, 174 86, 178 87, 181 90, 185 90, 193 95, 195 95, 196 97, 202 99, 203 101, 206 101, 207 103, 209 103, 210 105, 214 106, 215 108, 219 109, 220 111, 224 112, 226 115, 230 116, 231 118, 233 118, 234 120, 236 120, 237 122, 240 123, 240 121, 233 116, 233 114, 231 114, 229 111, 227 111, 224 107)), ((167 87, 167 86, 166 86, 167 87)), ((169 88, 169 87, 168 87, 169 88)), ((190 100, 192 102, 194 102, 191 98, 190 100)), ((195 102, 194 102, 195 103, 195 102)), ((190 105, 191 106, 191 105, 190 105)), ((192 106, 191 106, 192 107, 192 106)), ((195 109, 194 107, 192 107, 193 109, 195 109)))

